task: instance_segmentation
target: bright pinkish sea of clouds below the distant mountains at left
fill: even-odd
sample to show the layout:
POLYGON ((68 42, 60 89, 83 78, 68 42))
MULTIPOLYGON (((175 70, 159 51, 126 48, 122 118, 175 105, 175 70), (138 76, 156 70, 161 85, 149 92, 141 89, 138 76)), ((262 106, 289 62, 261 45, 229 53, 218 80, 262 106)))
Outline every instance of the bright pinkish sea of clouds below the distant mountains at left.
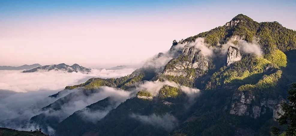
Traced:
POLYGON ((15 92, 61 90, 65 86, 80 84, 92 77, 122 77, 133 71, 134 68, 119 70, 92 69, 89 74, 83 74, 63 71, 21 73, 21 71, 15 70, 3 70, 0 71, 0 89, 15 92))

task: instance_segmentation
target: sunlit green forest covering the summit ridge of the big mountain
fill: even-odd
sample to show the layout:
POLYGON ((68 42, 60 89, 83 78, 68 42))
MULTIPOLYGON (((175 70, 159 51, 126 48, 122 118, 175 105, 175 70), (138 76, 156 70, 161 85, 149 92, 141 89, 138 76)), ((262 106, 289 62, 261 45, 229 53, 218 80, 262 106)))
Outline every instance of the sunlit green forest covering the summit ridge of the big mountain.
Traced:
POLYGON ((237 15, 232 20, 240 22, 236 26, 216 27, 189 37, 185 41, 195 41, 196 38, 202 37, 207 44, 217 46, 226 43, 231 36, 238 35, 248 42, 252 42, 254 37, 259 39, 259 44, 265 47, 265 52, 276 48, 281 51, 296 49, 296 31, 287 29, 278 22, 258 23, 243 14, 237 15))

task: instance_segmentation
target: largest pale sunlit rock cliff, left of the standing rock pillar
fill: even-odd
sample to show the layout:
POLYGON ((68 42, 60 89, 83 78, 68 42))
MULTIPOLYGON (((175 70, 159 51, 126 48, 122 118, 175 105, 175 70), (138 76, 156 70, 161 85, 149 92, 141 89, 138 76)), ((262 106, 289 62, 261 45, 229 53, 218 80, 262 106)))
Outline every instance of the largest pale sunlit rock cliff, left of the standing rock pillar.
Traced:
POLYGON ((186 68, 208 70, 208 59, 195 47, 184 46, 182 54, 177 59, 172 59, 164 70, 165 75, 187 76, 186 68))

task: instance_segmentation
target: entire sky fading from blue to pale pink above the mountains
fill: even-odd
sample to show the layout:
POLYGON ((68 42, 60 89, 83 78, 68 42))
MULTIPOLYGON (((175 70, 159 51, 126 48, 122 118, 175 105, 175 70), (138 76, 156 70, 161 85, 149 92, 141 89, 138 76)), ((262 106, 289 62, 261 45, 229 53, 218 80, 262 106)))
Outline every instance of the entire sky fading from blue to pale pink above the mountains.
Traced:
POLYGON ((0 65, 132 65, 237 14, 296 29, 295 0, 1 0, 0 65))

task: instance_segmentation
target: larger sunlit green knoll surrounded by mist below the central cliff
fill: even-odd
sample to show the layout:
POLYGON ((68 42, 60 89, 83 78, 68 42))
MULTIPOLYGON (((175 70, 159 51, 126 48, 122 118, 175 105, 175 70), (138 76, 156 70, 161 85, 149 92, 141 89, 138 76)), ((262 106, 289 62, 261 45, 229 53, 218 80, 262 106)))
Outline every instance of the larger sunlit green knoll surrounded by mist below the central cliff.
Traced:
POLYGON ((159 91, 159 98, 165 99, 165 98, 176 98, 180 93, 180 90, 177 87, 173 86, 163 86, 159 91))

